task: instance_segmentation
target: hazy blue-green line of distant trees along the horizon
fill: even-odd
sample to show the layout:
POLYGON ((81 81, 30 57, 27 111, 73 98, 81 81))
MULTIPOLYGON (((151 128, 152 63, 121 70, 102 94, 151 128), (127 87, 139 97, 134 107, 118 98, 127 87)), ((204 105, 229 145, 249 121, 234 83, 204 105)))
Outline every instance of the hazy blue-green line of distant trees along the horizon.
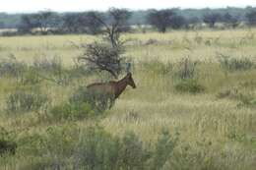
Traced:
MULTIPOLYGON (((195 28, 208 26, 216 28, 222 24, 224 28, 237 28, 239 25, 256 26, 256 8, 225 8, 225 9, 164 9, 146 11, 128 11, 119 9, 124 17, 123 31, 133 26, 142 28, 151 26, 160 32, 167 29, 195 28), (124 15, 125 14, 125 15, 124 15)), ((90 33, 96 34, 108 28, 113 20, 112 9, 107 12, 55 13, 41 11, 34 14, 8 15, 0 13, 0 28, 17 28, 19 33, 90 33)))

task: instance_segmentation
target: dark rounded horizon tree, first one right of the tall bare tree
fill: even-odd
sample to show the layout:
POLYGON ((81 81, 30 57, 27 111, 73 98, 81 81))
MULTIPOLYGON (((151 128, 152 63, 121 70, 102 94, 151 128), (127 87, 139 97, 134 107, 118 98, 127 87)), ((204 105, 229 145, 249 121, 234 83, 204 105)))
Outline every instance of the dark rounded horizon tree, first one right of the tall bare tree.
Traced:
POLYGON ((164 33, 166 28, 171 25, 171 18, 174 16, 172 10, 153 10, 147 17, 147 21, 153 27, 159 29, 160 32, 164 33))

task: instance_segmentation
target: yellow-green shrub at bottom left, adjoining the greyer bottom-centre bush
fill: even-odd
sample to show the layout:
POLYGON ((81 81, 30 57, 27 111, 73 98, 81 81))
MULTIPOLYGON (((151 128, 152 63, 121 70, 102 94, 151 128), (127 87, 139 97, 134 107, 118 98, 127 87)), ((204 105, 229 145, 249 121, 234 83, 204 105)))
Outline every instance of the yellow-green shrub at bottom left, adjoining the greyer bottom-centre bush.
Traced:
POLYGON ((79 129, 73 124, 51 126, 40 134, 20 137, 20 149, 28 156, 21 169, 74 169, 67 168, 73 159, 79 129))

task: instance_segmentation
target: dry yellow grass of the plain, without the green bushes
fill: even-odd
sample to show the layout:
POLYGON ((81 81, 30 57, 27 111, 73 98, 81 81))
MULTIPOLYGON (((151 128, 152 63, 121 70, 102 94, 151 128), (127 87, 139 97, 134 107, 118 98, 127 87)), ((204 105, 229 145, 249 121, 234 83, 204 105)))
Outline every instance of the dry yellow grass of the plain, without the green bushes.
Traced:
MULTIPOLYGON (((243 164, 241 167, 237 166, 237 169, 255 168, 256 109, 237 107, 239 102, 237 100, 217 98, 217 94, 223 88, 255 81, 255 69, 230 73, 226 76, 217 57, 222 53, 234 58, 247 57, 255 61, 256 37, 253 36, 253 32, 256 30, 125 34, 124 38, 131 39, 127 43, 125 55, 135 62, 133 77, 138 87, 136 89, 128 87, 117 99, 114 107, 102 118, 80 120, 75 124, 86 127, 97 122, 107 132, 117 136, 132 131, 143 142, 155 142, 164 128, 171 134, 176 132, 180 134, 180 145, 182 143, 196 145, 197 142, 202 141, 212 142, 213 149, 217 152, 227 150, 232 153, 234 157, 228 159, 231 164, 243 164), (202 42, 197 43, 196 37, 202 38, 202 42), (155 39, 156 43, 147 44, 150 39, 155 39), (145 63, 155 62, 177 64, 183 57, 201 62, 198 74, 199 82, 206 87, 203 93, 176 92, 171 75, 163 75, 144 67, 145 63), (238 136, 244 135, 244 138, 241 141, 232 139, 230 138, 232 133, 238 136), (239 154, 245 156, 247 162, 239 162, 239 160, 236 162, 239 154)), ((37 57, 59 56, 68 67, 73 64, 74 58, 83 52, 74 47, 73 43, 89 43, 96 38, 90 35, 0 37, 0 58, 13 54, 20 61, 32 63, 37 57)), ((79 85, 88 85, 95 81, 99 81, 99 78, 85 76, 81 81, 83 84, 77 83, 65 87, 47 85, 43 90, 51 96, 53 103, 58 103, 58 101, 65 101, 79 85)), ((5 108, 5 98, 13 90, 12 84, 12 81, 1 79, 2 110, 5 108)), ((253 86, 251 90, 250 92, 256 92, 256 87, 253 86)), ((40 115, 37 113, 0 116, 0 126, 14 131, 18 136, 42 133, 51 125, 54 123, 41 122, 40 115)), ((10 166, 9 169, 14 167, 19 169, 19 164, 23 162, 17 162, 17 164, 10 166)))

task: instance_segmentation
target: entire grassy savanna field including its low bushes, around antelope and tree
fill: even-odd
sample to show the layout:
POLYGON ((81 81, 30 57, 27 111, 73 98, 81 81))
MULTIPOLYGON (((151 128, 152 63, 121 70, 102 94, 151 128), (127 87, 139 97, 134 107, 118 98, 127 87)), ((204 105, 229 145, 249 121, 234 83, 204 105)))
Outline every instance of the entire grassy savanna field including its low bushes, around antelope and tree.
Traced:
POLYGON ((76 60, 97 36, 0 37, 0 169, 255 170, 256 29, 123 38, 137 88, 99 113, 69 102, 113 80, 76 60))

